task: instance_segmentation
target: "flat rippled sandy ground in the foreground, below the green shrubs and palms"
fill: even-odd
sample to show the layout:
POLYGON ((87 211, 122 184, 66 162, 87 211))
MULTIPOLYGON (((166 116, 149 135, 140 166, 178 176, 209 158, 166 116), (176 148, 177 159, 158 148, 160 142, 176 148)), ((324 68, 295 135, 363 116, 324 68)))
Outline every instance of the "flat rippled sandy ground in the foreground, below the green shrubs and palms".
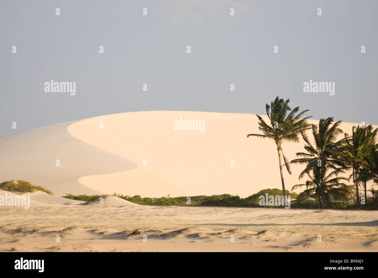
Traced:
POLYGON ((0 219, 2 252, 378 251, 378 211, 70 203, 2 207, 0 219))

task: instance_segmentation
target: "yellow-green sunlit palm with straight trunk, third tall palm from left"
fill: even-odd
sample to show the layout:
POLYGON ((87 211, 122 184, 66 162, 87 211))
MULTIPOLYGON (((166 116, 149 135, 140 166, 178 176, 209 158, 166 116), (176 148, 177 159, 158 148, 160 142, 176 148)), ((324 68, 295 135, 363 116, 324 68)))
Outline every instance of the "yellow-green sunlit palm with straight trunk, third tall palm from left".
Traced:
POLYGON ((342 142, 344 146, 339 159, 352 169, 353 181, 356 186, 356 208, 361 207, 359 199, 359 176, 361 169, 370 156, 374 146, 375 135, 378 129, 373 130, 371 125, 366 127, 353 126, 352 135, 344 134, 342 142))

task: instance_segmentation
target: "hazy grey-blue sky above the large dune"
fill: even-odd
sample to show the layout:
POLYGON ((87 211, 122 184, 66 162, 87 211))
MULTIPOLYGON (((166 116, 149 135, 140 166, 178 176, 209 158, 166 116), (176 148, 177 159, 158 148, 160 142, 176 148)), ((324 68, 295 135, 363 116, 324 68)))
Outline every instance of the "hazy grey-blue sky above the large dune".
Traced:
POLYGON ((0 136, 132 111, 265 114, 276 95, 313 119, 378 124, 377 11, 345 0, 2 0, 0 136), (76 95, 44 92, 50 79, 76 82, 76 95), (304 93, 310 79, 335 82, 335 95, 304 93))

